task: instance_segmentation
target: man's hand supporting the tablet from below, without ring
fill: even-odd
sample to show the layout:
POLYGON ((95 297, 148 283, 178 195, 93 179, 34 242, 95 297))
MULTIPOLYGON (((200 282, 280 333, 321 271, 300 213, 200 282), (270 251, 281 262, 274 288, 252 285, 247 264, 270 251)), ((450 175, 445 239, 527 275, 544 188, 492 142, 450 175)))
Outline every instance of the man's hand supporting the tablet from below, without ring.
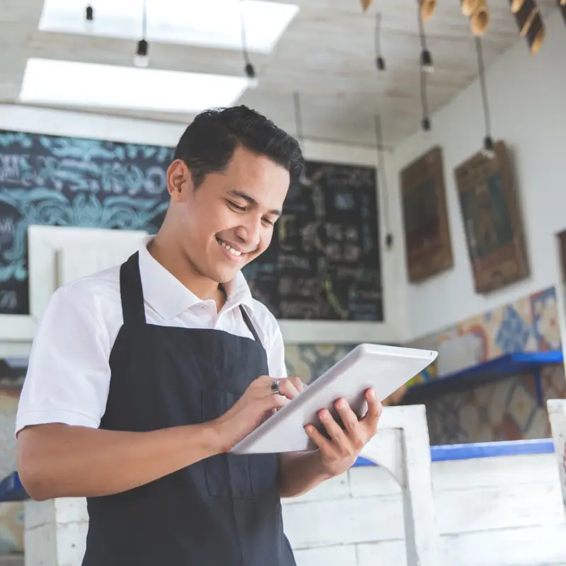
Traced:
POLYGON ((323 409, 318 412, 318 417, 328 432, 330 440, 312 425, 305 428, 306 434, 318 446, 323 472, 330 477, 340 475, 352 467, 359 453, 377 432, 377 424, 382 411, 381 403, 371 388, 366 391, 366 400, 368 410, 359 420, 345 399, 336 401, 335 407, 345 429, 340 427, 328 410, 323 409))

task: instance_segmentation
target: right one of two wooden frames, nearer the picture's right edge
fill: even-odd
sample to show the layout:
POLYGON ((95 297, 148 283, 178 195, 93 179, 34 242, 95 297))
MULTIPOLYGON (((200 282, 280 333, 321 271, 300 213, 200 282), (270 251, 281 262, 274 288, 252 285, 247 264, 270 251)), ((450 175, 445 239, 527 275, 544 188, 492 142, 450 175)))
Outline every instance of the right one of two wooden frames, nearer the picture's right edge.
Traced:
POLYGON ((475 292, 487 294, 529 277, 524 227, 503 141, 454 169, 475 292))

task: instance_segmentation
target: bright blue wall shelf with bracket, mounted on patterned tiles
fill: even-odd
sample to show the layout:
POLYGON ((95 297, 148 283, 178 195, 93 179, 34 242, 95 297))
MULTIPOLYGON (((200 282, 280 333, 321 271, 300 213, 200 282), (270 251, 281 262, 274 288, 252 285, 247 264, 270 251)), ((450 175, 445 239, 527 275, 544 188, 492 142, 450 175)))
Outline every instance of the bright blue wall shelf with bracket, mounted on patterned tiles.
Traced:
POLYGON ((504 379, 514 375, 535 374, 539 403, 542 403, 541 368, 548 364, 561 364, 562 351, 548 352, 514 352, 501 357, 490 359, 489 362, 472 366, 454 374, 438 379, 417 383, 408 388, 401 405, 415 405, 427 398, 434 398, 444 393, 463 391, 490 381, 504 379))

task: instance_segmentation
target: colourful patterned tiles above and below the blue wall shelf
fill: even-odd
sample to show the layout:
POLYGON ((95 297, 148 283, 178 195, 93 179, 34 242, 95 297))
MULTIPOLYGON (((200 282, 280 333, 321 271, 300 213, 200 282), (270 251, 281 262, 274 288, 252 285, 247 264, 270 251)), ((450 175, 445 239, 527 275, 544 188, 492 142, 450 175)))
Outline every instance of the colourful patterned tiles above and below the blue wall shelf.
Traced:
MULTIPOLYGON (((468 333, 480 338, 484 362, 512 352, 560 350, 554 287, 421 337, 410 345, 437 350, 442 342, 468 333)), ((412 383, 434 379, 436 364, 412 383)), ((426 403, 431 443, 550 437, 546 412, 549 398, 566 398, 562 364, 543 367, 539 381, 536 374, 509 376, 468 391, 440 395, 426 403)))

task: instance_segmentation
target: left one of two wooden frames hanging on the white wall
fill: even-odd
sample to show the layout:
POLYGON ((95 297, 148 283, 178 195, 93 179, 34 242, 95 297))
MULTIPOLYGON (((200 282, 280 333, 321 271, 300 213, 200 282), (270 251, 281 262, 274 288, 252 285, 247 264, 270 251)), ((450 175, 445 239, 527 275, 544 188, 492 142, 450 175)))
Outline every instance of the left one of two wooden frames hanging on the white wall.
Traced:
POLYGON ((406 166, 400 184, 408 279, 423 282, 454 266, 441 148, 406 166))

